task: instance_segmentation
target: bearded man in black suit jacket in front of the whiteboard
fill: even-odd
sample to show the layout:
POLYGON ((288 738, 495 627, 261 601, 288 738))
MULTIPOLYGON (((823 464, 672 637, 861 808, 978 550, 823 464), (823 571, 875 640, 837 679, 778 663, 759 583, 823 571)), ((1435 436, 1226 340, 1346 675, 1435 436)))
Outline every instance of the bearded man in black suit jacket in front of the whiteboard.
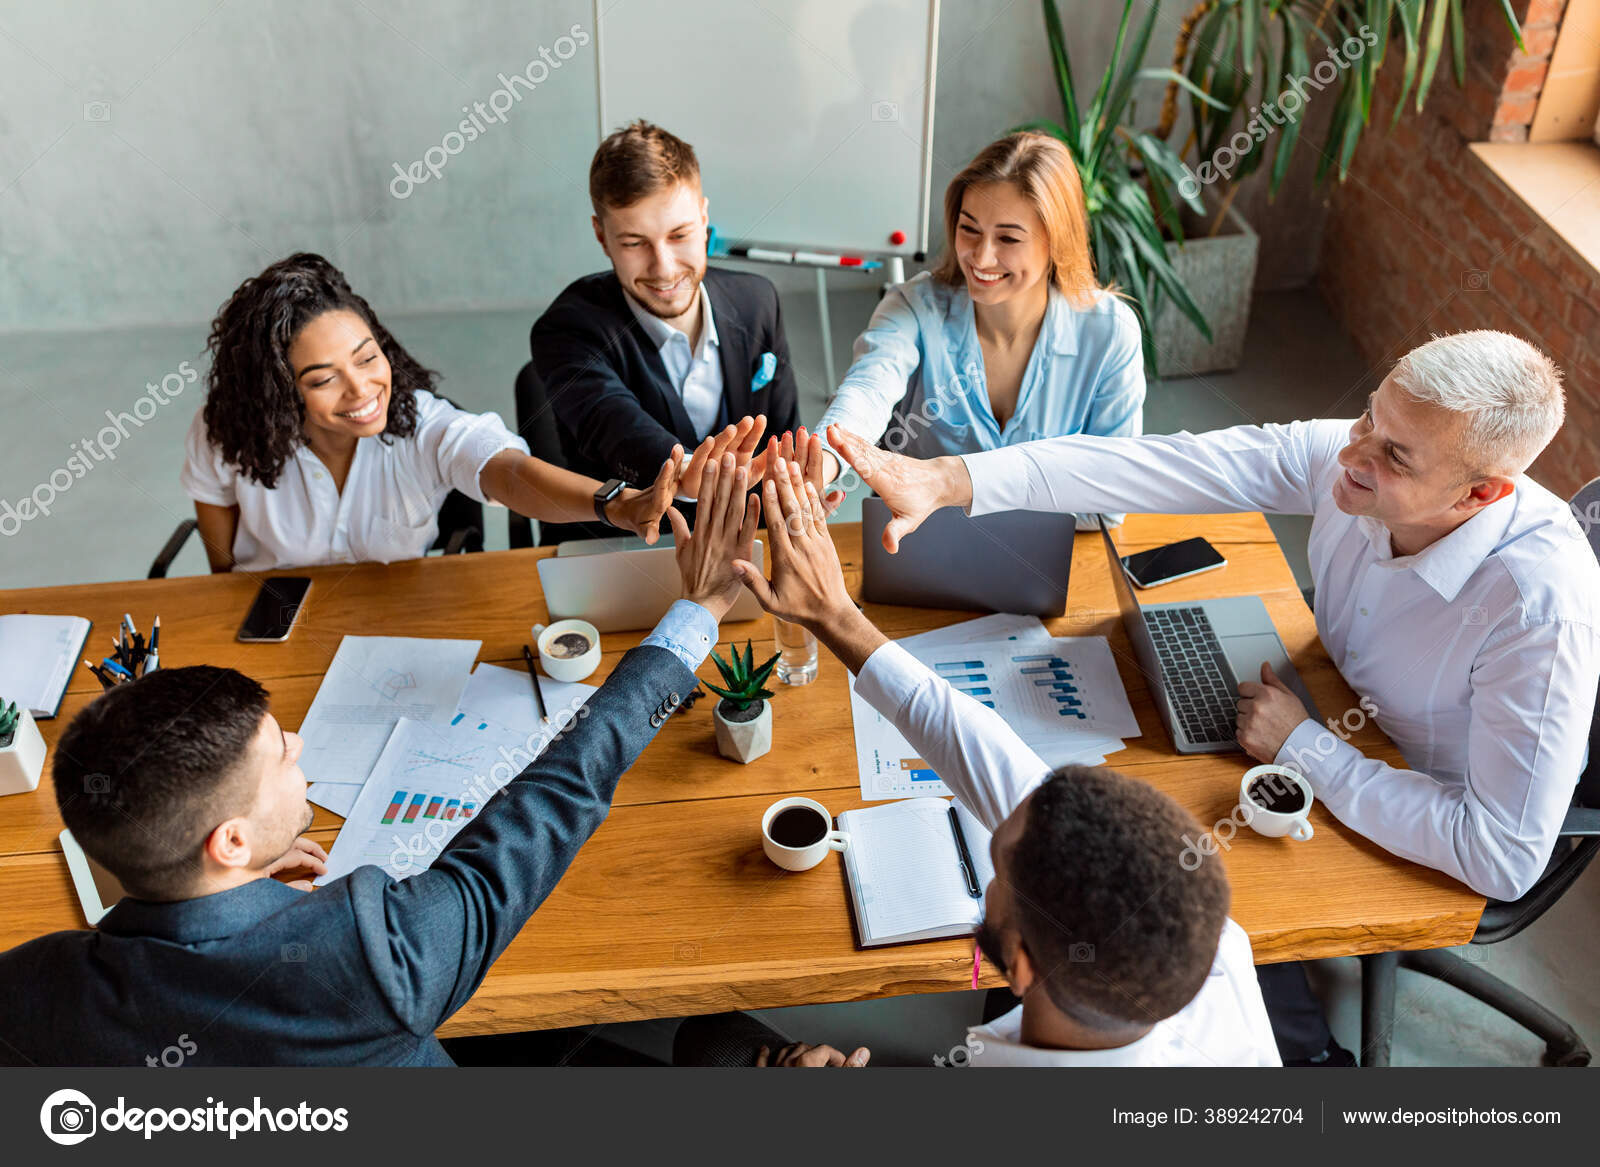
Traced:
MULTIPOLYGON (((707 269, 709 203, 690 144, 648 122, 618 130, 589 166, 589 197, 611 271, 568 287, 530 336, 568 467, 642 483, 674 445, 694 450, 746 416, 794 431, 778 290, 707 269)), ((693 496, 696 483, 680 490, 693 496)))

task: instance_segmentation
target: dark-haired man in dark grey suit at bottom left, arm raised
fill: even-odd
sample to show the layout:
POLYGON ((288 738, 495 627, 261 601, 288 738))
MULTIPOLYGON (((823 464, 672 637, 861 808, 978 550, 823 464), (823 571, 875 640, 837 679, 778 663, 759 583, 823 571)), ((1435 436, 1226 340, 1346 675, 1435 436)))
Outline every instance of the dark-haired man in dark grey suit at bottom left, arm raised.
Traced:
POLYGON ((694 688, 739 594, 758 501, 728 455, 690 536, 683 600, 571 725, 434 864, 373 866, 315 892, 270 879, 326 858, 301 741, 254 680, 163 669, 101 696, 62 735, 61 816, 130 898, 94 932, 0 954, 0 1063, 451 1065, 434 1031, 477 989, 600 826, 618 778, 694 688))

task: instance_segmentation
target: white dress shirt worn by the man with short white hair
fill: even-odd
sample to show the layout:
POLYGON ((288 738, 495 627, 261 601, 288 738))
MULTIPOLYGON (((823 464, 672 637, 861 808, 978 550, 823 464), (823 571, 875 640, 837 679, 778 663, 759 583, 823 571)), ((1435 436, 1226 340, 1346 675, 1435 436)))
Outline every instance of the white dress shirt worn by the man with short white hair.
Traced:
POLYGON ((1062 437, 965 458, 971 514, 1310 514, 1317 632, 1410 768, 1302 722, 1278 751, 1342 823, 1482 895, 1544 871, 1582 772, 1600 682, 1600 565, 1528 477, 1416 555, 1333 501, 1349 421, 1142 439, 1062 437))

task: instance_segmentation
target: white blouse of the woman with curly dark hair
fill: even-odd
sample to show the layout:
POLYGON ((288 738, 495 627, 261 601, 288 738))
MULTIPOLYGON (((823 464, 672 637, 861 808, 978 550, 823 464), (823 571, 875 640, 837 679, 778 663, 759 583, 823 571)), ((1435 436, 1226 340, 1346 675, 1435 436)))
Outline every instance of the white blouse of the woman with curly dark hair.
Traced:
POLYGON ((179 482, 197 503, 238 507, 235 570, 418 559, 438 538, 438 507, 450 491, 491 503, 478 487, 485 463, 501 450, 528 453, 528 443, 498 413, 467 413, 421 389, 416 413, 408 439, 357 440, 341 493, 306 445, 269 490, 222 458, 202 410, 189 426, 179 482))

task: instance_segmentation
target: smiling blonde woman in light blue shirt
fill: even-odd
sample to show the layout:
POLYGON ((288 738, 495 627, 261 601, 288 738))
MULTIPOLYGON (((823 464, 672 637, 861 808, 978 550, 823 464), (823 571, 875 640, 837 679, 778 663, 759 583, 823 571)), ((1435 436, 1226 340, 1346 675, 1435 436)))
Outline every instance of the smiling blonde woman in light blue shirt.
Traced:
MULTIPOLYGON (((818 426, 912 455, 1142 432, 1139 322, 1094 280, 1067 147, 1016 133, 944 194, 939 266, 890 290, 818 426)), ((822 455, 822 479, 838 471, 822 455)))

